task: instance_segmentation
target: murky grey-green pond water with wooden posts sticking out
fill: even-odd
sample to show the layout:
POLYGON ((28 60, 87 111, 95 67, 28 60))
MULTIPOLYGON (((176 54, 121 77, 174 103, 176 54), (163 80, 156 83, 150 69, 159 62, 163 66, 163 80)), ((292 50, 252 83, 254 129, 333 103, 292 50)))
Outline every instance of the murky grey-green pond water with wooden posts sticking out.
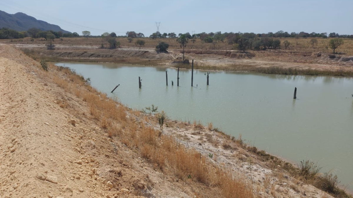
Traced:
POLYGON ((294 163, 313 160, 323 166, 321 171, 333 170, 343 185, 353 181, 352 78, 211 72, 207 86, 207 71, 195 70, 191 87, 191 70, 181 69, 177 87, 177 69, 57 63, 64 64, 131 108, 154 104, 173 119, 213 122, 227 134, 241 134, 245 142, 294 163))

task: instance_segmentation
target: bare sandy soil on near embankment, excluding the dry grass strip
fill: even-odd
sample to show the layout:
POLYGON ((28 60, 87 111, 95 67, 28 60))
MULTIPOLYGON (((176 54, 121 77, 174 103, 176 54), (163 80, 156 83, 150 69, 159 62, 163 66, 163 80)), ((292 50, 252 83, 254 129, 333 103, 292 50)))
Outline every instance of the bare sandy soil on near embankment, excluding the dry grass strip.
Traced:
MULTIPOLYGON (((40 65, 0 45, 0 197, 219 197, 217 188, 179 181, 110 139, 88 105, 58 87, 40 65), (61 107, 59 101, 66 101, 61 107)), ((78 85, 73 85, 78 86, 78 85)), ((129 117, 143 119, 127 112, 129 117)), ((144 115, 158 129, 154 116, 144 115)), ((331 197, 292 178, 222 134, 168 121, 163 133, 253 183, 257 197, 331 197), (226 142, 227 147, 222 145, 226 142)))

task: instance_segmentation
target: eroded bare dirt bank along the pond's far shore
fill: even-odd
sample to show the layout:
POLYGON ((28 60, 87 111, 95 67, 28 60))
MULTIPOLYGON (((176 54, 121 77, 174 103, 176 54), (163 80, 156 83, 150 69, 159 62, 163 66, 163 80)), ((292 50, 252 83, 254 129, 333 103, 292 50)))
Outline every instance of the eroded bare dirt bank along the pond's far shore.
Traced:
MULTIPOLYGON (((46 50, 43 45, 15 45, 26 54, 50 61, 114 62, 143 65, 175 66, 183 55, 181 50, 157 53, 152 48, 98 49, 95 46, 57 45, 46 50)), ((324 71, 329 75, 353 75, 353 57, 323 52, 266 50, 239 53, 235 50, 185 50, 187 59, 194 59, 199 69, 233 70, 261 73, 302 74, 295 71, 324 71), (271 70, 269 70, 271 68, 271 70), (280 71, 279 71, 280 70, 280 71), (289 70, 289 71, 288 71, 289 70)), ((313 75, 311 72, 307 72, 313 75)), ((315 74, 315 73, 314 73, 315 74)))

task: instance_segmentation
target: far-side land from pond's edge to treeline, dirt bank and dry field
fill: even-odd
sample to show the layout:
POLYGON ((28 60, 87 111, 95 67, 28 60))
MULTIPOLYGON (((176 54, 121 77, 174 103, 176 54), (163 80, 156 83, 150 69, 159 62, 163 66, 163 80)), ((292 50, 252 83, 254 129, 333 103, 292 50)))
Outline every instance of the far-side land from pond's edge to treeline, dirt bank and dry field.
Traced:
MULTIPOLYGON (((30 38, 3 40, 2 43, 13 44, 31 57, 43 58, 49 61, 88 61, 114 62, 142 65, 167 65, 170 67, 191 68, 190 64, 177 64, 182 60, 180 45, 173 38, 142 38, 146 44, 137 47, 134 39, 131 43, 126 38, 117 38, 121 43, 118 49, 100 49, 104 42, 102 38, 63 38, 53 42, 55 50, 47 50, 47 41, 30 38), (169 53, 157 54, 155 46, 159 42, 170 45, 169 53)), ((288 49, 281 50, 248 50, 239 53, 233 50, 227 42, 216 45, 204 43, 199 39, 193 43, 189 40, 185 48, 187 59, 194 59, 196 69, 230 70, 244 72, 260 72, 274 74, 308 74, 308 75, 341 75, 353 76, 353 39, 344 39, 345 44, 331 54, 326 49, 331 38, 317 38, 318 43, 313 49, 310 38, 282 38, 292 44, 288 49)))

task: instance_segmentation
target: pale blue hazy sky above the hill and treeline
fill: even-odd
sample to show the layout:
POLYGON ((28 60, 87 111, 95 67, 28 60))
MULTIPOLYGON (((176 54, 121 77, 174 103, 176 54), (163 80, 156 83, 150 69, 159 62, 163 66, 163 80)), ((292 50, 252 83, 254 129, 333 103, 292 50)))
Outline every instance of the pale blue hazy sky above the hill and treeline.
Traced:
POLYGON ((91 35, 156 32, 336 32, 353 35, 353 0, 0 0, 0 10, 91 35))

